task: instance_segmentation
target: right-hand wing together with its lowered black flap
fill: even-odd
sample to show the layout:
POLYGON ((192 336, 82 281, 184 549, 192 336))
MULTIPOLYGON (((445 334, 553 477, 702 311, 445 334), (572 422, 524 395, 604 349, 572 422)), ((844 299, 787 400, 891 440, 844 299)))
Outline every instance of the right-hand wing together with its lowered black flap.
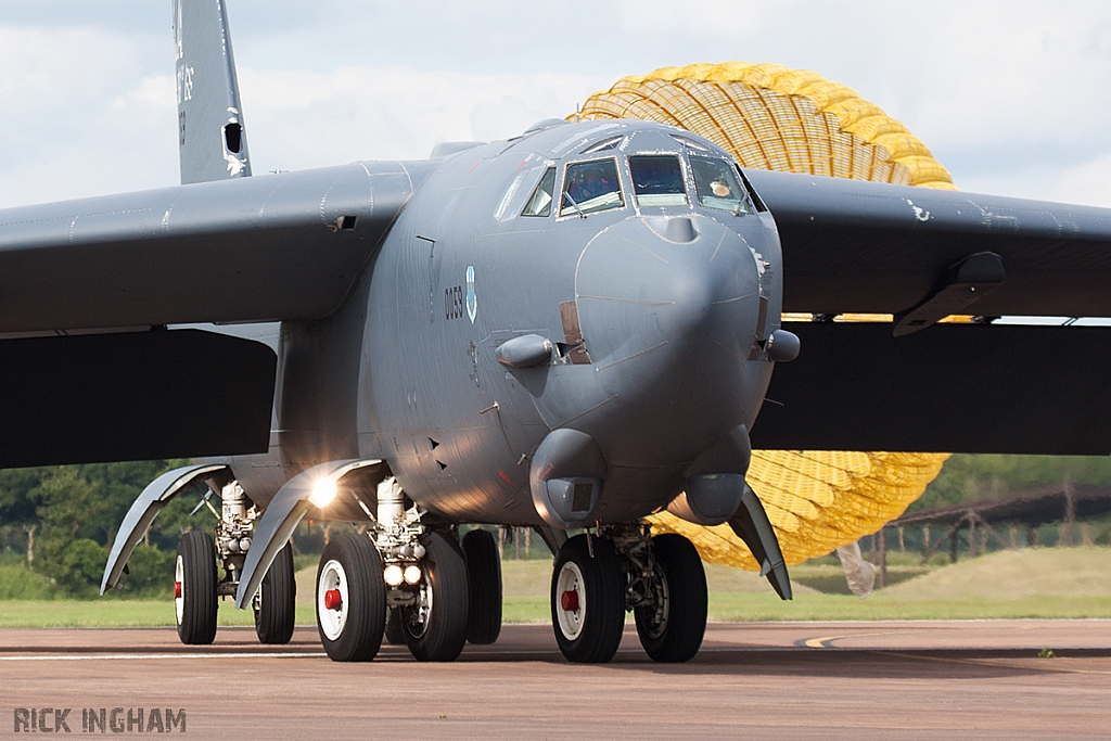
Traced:
POLYGON ((745 170, 783 246, 788 323, 758 448, 1111 453, 1111 328, 935 324, 1111 317, 1111 210, 745 170))

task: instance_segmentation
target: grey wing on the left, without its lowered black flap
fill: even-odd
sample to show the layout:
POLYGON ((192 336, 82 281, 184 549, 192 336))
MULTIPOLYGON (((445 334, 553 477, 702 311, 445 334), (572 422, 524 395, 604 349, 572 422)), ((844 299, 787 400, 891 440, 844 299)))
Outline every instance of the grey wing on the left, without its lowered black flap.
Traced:
POLYGON ((0 333, 327 317, 429 166, 0 210, 0 333))

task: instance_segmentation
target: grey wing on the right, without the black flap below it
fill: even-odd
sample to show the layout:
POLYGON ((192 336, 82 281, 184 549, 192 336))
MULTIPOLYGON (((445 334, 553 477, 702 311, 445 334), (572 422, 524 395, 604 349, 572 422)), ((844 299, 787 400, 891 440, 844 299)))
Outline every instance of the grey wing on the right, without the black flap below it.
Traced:
MULTIPOLYGON (((1001 282, 981 284, 974 300, 944 313, 1111 317, 1109 209, 744 173, 783 243, 783 311, 902 314, 933 299, 944 310, 953 297, 947 303, 939 294, 960 282, 951 271, 990 252, 1001 282)), ((975 272, 983 278, 989 267, 975 272)))

